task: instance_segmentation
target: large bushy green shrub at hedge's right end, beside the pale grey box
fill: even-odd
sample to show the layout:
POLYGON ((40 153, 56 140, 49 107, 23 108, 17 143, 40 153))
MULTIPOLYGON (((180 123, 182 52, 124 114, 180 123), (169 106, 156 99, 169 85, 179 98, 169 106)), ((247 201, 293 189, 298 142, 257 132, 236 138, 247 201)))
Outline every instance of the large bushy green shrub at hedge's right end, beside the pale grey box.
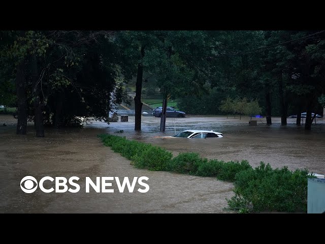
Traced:
POLYGON ((261 162, 254 170, 243 170, 235 179, 232 209, 250 211, 307 211, 308 170, 292 172, 287 167, 272 169, 261 162))

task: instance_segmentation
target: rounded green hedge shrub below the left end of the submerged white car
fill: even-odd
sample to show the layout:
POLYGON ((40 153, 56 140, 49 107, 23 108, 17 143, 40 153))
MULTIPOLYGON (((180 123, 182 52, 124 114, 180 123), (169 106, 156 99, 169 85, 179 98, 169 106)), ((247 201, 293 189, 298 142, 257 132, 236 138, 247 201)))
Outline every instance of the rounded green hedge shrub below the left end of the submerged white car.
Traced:
POLYGON ((207 159, 200 158, 197 153, 181 153, 170 161, 168 170, 183 174, 196 174, 202 161, 207 161, 207 159))

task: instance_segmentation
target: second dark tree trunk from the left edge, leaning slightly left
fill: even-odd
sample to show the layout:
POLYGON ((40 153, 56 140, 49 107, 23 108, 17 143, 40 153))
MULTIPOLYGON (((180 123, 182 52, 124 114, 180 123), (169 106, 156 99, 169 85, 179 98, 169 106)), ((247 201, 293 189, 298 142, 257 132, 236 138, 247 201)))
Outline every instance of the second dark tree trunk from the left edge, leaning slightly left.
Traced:
POLYGON ((32 87, 33 87, 33 98, 34 99, 34 122, 36 129, 36 137, 44 137, 44 124, 43 124, 43 113, 42 113, 42 100, 40 93, 39 84, 39 71, 37 66, 36 53, 32 56, 31 63, 32 70, 32 87))

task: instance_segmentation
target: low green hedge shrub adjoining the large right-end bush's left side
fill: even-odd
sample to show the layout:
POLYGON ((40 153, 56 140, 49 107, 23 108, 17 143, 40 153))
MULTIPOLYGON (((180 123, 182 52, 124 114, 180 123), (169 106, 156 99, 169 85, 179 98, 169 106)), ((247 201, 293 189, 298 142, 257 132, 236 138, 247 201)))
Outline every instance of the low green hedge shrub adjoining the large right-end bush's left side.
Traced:
POLYGON ((220 180, 235 181, 236 174, 246 169, 252 169, 246 160, 242 160, 240 163, 238 161, 223 163, 219 174, 217 174, 217 178, 220 180))

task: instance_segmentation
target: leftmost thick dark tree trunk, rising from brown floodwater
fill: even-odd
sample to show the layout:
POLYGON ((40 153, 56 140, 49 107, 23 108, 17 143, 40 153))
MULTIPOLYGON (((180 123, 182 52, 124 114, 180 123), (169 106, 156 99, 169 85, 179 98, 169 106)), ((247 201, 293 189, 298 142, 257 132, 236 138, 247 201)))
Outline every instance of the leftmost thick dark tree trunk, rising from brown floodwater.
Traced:
MULTIPOLYGON (((20 31, 20 36, 25 35, 24 31, 20 31)), ((16 91, 17 91, 17 134, 25 135, 27 132, 27 104, 25 94, 25 59, 22 58, 17 65, 16 73, 16 91)))

